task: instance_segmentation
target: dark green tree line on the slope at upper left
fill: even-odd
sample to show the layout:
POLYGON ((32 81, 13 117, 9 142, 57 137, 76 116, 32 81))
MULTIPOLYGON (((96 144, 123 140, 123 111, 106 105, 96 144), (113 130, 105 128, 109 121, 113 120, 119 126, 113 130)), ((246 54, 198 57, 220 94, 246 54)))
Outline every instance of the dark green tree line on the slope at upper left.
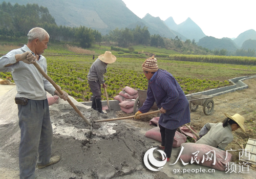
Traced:
POLYGON ((44 28, 52 40, 78 41, 82 48, 89 48, 102 38, 97 30, 91 28, 57 26, 46 7, 29 3, 26 6, 17 3, 12 6, 10 2, 0 4, 0 39, 17 40, 27 36, 34 27, 44 28))

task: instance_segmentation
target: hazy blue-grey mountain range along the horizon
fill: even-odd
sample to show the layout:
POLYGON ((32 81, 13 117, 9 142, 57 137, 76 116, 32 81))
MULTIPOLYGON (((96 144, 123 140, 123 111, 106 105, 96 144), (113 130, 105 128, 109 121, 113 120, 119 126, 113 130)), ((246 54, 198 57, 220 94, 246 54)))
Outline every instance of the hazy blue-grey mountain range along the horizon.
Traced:
MULTIPOLYGON (((58 26, 80 27, 98 30, 102 35, 109 34, 111 30, 116 28, 135 28, 137 25, 143 28, 148 27, 148 31, 153 34, 159 34, 167 38, 175 38, 178 36, 185 41, 186 39, 195 39, 199 46, 205 48, 241 48, 244 41, 248 39, 256 39, 256 32, 248 30, 241 33, 236 39, 232 40, 217 39, 214 37, 206 37, 202 29, 187 18, 183 23, 177 25, 173 17, 167 18, 165 21, 159 17, 153 17, 146 14, 142 19, 135 15, 122 0, 0 0, 0 3, 10 2, 12 5, 38 4, 47 7, 50 14, 55 18, 58 26), (209 40, 209 41, 208 41, 209 40), (210 41, 214 40, 214 44, 210 41)), ((252 43, 250 43, 252 44, 252 43)))

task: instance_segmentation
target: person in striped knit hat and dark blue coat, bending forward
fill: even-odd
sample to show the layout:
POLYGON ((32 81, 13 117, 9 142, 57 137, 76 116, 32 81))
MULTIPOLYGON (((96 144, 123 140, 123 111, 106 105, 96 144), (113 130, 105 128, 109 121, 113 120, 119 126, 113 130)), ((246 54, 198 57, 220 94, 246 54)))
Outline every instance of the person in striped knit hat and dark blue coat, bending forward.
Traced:
POLYGON ((158 124, 162 139, 157 147, 164 150, 170 162, 175 132, 190 122, 189 104, 177 80, 167 71, 158 69, 154 56, 145 60, 142 70, 148 80, 147 98, 134 118, 139 119, 137 115, 146 113, 156 102, 161 113, 158 124))

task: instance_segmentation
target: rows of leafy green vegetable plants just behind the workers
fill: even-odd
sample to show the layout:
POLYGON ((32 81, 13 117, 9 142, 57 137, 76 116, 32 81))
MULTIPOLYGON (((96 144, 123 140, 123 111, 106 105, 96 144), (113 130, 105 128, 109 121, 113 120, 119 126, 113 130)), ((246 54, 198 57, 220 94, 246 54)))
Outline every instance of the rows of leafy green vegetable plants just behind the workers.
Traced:
MULTIPOLYGON (((86 61, 86 60, 84 60, 86 61)), ((77 101, 89 101, 92 93, 87 81, 89 64, 75 63, 73 60, 60 60, 48 57, 48 75, 61 86, 69 95, 77 101)), ((147 79, 142 72, 133 70, 108 68, 105 76, 105 84, 108 86, 106 92, 112 100, 125 86, 135 89, 147 89, 147 79)), ((228 81, 200 80, 184 77, 176 77, 185 94, 205 91, 210 88, 217 88, 230 85, 228 81)), ((106 97, 102 92, 102 100, 106 97)))

